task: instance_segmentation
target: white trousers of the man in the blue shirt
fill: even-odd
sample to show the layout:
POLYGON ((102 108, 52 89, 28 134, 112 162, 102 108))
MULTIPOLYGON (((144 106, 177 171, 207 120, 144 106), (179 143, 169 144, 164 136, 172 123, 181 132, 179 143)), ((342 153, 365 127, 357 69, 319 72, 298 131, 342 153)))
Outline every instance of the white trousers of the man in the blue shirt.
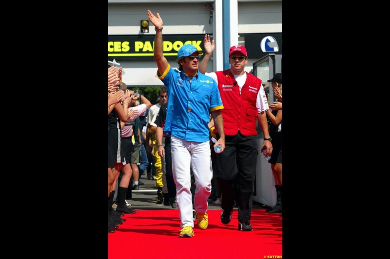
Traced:
POLYGON ((176 184, 176 201, 180 215, 180 227, 192 226, 192 195, 191 173, 195 177, 195 210, 197 213, 206 213, 207 199, 211 193, 211 179, 213 168, 209 141, 186 141, 175 136, 171 137, 172 173, 176 184))

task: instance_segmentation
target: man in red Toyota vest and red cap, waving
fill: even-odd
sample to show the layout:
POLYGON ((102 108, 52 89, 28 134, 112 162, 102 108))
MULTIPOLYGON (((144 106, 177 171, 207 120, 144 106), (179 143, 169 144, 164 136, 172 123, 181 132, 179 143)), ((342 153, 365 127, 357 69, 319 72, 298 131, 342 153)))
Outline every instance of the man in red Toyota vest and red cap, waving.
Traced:
POLYGON ((217 181, 222 194, 221 222, 232 220, 234 199, 238 203, 238 230, 252 231, 252 188, 256 173, 257 154, 266 147, 271 155, 272 144, 268 133, 268 110, 266 93, 261 80, 245 72, 248 53, 244 46, 232 46, 229 50, 230 69, 206 73, 207 63, 214 52, 214 40, 205 35, 206 54, 199 65, 199 71, 215 80, 224 109, 222 117, 225 131, 225 150, 216 154, 217 181), (256 120, 264 134, 261 149, 257 147, 256 120), (236 197, 234 197, 234 189, 236 197))

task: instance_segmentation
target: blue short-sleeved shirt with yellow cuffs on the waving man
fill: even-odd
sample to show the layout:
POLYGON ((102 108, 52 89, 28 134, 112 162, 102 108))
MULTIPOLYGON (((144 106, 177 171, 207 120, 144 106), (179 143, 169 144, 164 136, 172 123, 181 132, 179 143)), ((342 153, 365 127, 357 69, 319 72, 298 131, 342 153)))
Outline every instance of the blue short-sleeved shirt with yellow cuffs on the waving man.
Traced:
POLYGON ((209 141, 210 113, 223 109, 218 87, 199 71, 192 78, 168 65, 157 77, 167 87, 168 106, 164 132, 187 141, 209 141))

